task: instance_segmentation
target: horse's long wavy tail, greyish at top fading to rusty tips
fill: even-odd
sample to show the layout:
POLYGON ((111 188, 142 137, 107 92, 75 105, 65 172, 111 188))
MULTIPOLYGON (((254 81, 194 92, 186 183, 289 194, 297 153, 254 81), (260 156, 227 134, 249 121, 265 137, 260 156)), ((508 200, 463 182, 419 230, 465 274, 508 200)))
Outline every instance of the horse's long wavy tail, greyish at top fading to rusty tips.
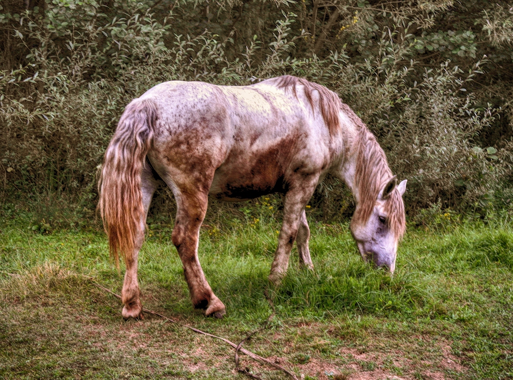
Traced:
POLYGON ((141 171, 153 143, 157 120, 151 100, 134 100, 123 112, 105 153, 98 179, 98 208, 109 237, 109 251, 119 268, 119 253, 131 258, 141 229, 143 198, 141 171))

